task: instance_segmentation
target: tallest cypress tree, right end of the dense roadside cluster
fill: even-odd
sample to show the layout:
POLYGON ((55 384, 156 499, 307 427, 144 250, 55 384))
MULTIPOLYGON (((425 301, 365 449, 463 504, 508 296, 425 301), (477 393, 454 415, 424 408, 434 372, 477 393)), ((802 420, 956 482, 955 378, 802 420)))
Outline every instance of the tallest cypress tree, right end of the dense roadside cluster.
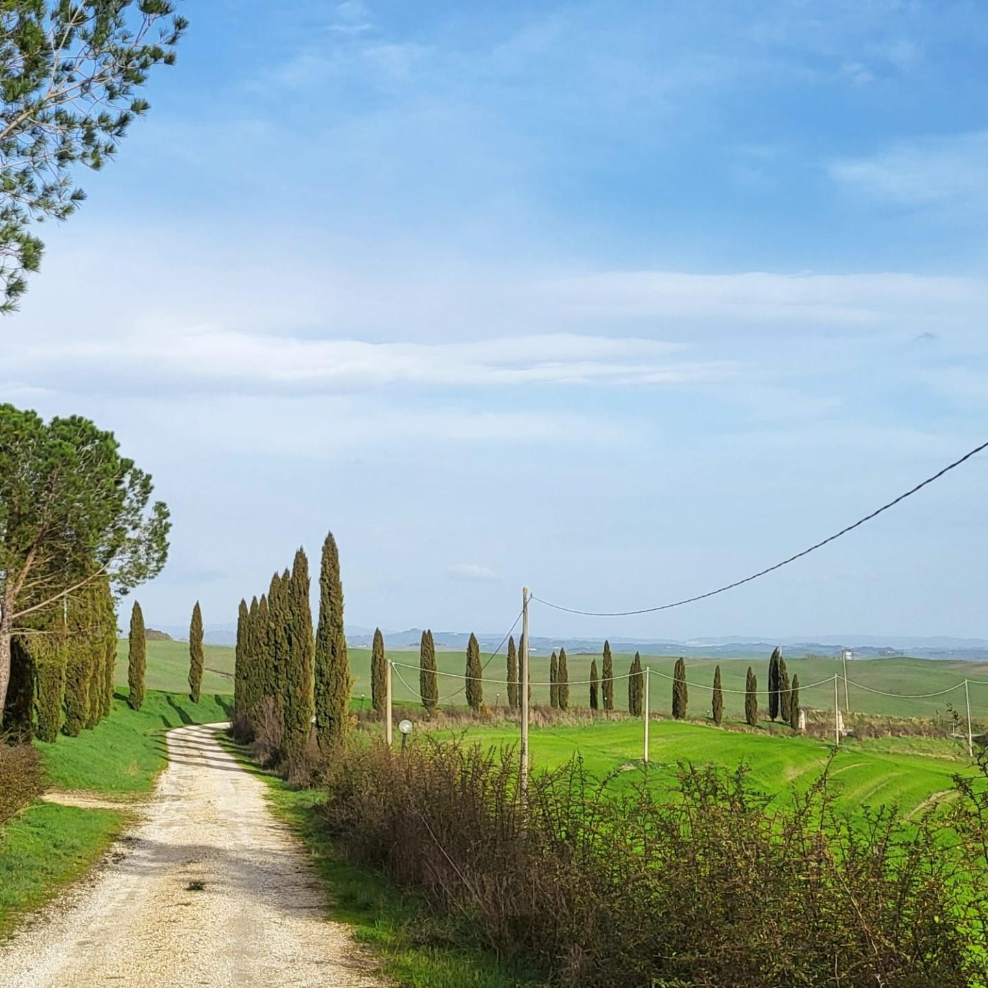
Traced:
POLYGON ((353 689, 347 635, 343 627, 340 553, 330 532, 322 543, 319 626, 315 635, 315 722, 322 751, 329 751, 340 744, 350 730, 350 694, 353 689))

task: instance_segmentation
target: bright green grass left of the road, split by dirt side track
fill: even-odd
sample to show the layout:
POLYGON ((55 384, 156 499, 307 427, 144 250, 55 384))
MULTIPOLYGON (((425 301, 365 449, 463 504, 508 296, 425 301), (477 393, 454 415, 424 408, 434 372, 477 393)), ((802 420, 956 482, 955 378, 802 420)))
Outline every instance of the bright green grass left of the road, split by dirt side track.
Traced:
MULTIPOLYGON (((148 792, 167 764, 163 734, 183 724, 228 719, 230 698, 149 691, 140 710, 124 696, 110 716, 78 737, 37 742, 47 782, 109 798, 148 792)), ((24 914, 84 875, 130 819, 120 811, 37 802, 0 827, 0 937, 24 914)))

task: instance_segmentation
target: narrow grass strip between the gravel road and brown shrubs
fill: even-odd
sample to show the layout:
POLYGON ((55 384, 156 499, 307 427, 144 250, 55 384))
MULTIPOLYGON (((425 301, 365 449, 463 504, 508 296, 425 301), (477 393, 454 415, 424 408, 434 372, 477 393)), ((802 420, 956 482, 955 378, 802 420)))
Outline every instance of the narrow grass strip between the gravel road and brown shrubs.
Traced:
POLYGON ((349 864, 319 825, 322 793, 292 789, 250 763, 243 750, 221 739, 248 771, 268 784, 268 801, 305 845, 329 890, 329 915, 353 928, 354 938, 381 959, 381 972, 405 988, 535 988, 531 973, 509 968, 485 951, 458 946, 462 931, 428 914, 381 874, 349 864))

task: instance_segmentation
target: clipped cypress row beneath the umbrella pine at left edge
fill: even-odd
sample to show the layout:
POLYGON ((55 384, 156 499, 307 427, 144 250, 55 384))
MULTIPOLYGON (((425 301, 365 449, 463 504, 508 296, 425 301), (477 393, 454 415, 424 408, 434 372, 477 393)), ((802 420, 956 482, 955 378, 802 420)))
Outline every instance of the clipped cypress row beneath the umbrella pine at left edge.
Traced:
POLYGON ((76 737, 110 713, 117 660, 117 612, 98 577, 33 621, 11 642, 4 726, 23 739, 76 737))

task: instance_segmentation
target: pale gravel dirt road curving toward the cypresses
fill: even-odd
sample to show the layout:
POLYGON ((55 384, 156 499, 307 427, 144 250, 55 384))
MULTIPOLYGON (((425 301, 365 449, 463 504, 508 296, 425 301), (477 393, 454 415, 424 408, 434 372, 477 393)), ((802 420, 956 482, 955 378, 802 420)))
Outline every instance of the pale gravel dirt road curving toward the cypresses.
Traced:
POLYGON ((318 879, 214 727, 168 735, 142 823, 49 918, 0 946, 4 988, 380 988, 318 879), (200 888, 200 883, 202 887, 200 888))

